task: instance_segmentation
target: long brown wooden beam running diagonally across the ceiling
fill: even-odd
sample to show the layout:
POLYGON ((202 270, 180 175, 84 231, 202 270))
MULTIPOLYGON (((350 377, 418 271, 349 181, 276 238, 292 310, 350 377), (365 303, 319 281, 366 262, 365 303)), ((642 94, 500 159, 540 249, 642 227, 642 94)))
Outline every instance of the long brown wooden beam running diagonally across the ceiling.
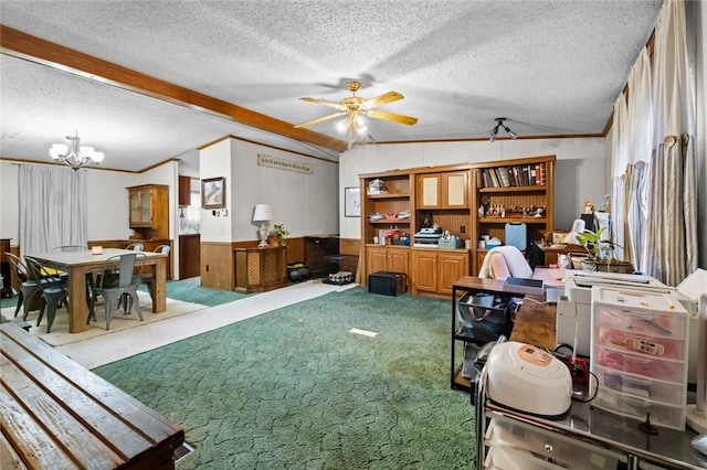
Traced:
POLYGON ((123 89, 186 106, 266 132, 339 152, 348 149, 348 143, 344 140, 335 139, 309 129, 295 128, 292 124, 285 122, 284 120, 275 119, 232 103, 175 85, 173 83, 155 78, 2 24, 0 24, 0 52, 6 55, 114 85, 123 89))

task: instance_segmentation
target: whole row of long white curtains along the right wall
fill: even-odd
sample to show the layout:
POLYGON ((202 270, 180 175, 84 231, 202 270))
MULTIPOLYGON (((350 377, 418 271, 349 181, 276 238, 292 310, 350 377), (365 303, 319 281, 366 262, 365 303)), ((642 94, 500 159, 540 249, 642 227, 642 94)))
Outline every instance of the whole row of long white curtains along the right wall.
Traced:
POLYGON ((694 102, 684 0, 666 0, 614 105, 614 242, 634 268, 677 285, 697 268, 694 102), (624 103, 626 102, 627 103, 624 103), (625 105, 625 107, 624 107, 625 105))

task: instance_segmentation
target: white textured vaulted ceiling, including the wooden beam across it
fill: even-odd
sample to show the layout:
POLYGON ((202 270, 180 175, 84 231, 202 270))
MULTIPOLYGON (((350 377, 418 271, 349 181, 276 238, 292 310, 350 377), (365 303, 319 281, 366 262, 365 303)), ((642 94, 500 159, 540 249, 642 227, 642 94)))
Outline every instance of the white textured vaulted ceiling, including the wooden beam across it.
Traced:
POLYGON ((502 116, 519 138, 602 135, 662 3, 0 0, 0 157, 50 161, 77 130, 127 171, 198 175, 228 135, 337 160, 337 119, 293 125, 334 110, 299 97, 338 102, 350 79, 419 118, 370 119, 369 143, 486 139, 502 116))

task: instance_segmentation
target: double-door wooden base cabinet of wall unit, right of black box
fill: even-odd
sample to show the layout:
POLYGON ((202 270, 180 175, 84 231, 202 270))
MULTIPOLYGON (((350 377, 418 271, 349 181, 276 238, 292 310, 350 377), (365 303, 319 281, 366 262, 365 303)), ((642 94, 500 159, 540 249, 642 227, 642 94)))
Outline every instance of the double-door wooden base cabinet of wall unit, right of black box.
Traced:
POLYGON ((413 249, 412 293, 451 295, 454 282, 468 276, 467 249, 413 249))

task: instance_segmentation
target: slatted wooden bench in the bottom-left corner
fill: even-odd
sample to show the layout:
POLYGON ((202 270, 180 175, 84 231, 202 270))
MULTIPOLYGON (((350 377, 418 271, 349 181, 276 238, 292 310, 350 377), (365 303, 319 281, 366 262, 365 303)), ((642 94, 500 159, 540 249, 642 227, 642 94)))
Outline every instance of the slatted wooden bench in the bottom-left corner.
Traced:
POLYGON ((0 468, 173 469, 184 431, 13 323, 0 324, 0 468))

